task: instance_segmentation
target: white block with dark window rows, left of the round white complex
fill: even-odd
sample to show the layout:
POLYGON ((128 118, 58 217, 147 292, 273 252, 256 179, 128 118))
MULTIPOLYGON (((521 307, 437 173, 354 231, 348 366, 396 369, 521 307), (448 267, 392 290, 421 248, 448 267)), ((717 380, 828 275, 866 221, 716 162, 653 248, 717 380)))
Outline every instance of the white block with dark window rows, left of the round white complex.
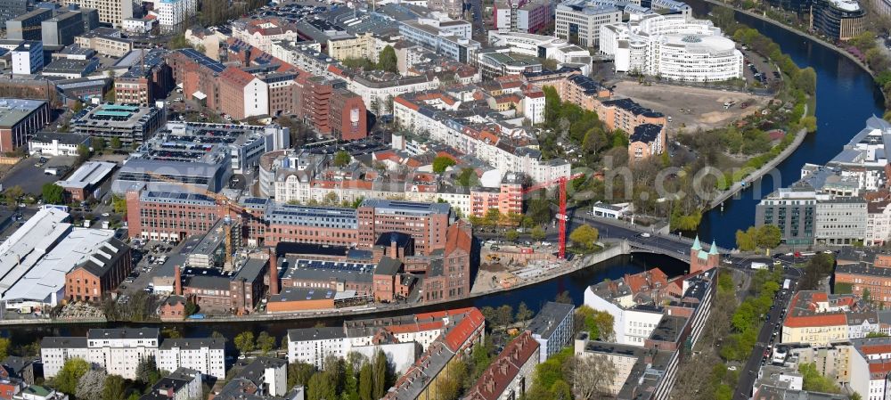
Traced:
POLYGON ((568 0, 557 4, 557 37, 583 47, 600 45, 601 27, 622 21, 622 10, 614 5, 568 0))

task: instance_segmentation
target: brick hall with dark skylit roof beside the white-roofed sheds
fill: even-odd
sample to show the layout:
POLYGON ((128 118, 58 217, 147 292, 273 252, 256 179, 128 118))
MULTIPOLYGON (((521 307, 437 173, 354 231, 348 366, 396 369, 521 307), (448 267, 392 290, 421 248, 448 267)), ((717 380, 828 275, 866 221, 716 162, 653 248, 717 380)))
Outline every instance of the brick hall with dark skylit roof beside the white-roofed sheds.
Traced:
POLYGON ((133 270, 130 247, 112 238, 85 262, 65 274, 65 294, 71 300, 99 301, 118 288, 133 270))

